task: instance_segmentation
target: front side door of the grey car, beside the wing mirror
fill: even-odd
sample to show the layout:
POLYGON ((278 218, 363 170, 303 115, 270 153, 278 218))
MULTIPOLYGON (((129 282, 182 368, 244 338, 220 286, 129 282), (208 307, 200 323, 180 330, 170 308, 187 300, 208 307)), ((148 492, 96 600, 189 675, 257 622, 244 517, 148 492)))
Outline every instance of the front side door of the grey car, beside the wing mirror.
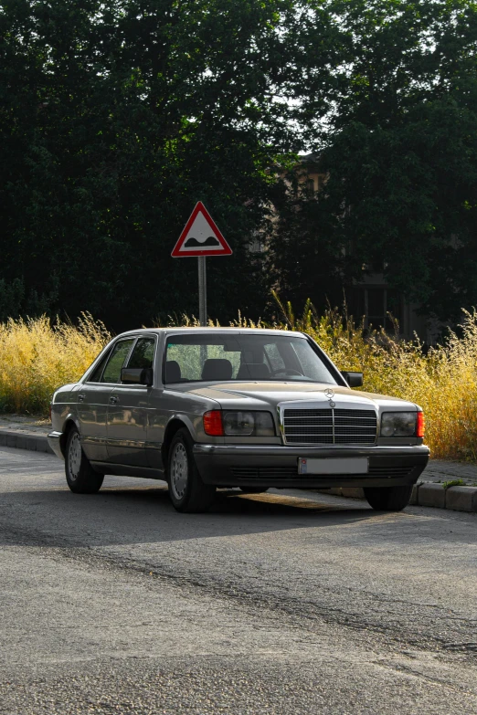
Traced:
MULTIPOLYGON (((154 335, 136 339, 123 367, 134 369, 154 366, 154 335)), ((108 460, 114 464, 147 467, 146 433, 151 388, 143 384, 117 384, 108 408, 108 460)))

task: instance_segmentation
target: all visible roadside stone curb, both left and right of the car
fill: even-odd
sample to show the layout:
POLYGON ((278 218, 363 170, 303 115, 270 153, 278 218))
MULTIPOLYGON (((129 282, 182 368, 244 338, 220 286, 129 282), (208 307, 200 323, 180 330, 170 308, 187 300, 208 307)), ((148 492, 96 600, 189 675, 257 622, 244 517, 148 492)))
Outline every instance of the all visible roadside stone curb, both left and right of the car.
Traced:
MULTIPOLYGON (((46 435, 35 435, 32 432, 18 433, 9 429, 0 429, 0 446, 28 449, 31 452, 43 452, 48 455, 55 454, 48 445, 46 435)), ((347 499, 366 499, 365 492, 361 488, 332 487, 332 489, 316 489, 316 491, 347 499)), ((477 513, 477 487, 449 487, 449 489, 444 489, 441 484, 420 482, 412 488, 409 504, 411 506, 432 507, 433 509, 451 509, 477 513)))

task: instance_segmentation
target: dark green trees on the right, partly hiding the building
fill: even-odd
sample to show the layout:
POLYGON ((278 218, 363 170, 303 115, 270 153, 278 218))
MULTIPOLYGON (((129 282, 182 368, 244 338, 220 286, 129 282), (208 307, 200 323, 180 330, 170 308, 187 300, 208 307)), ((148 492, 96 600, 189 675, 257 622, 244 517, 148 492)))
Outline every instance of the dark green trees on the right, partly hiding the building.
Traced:
MULTIPOLYGON (((303 47, 321 37, 323 6, 310 3, 303 47)), ((329 75, 318 64, 308 71, 295 119, 328 181, 318 197, 290 196, 294 236, 290 206, 281 209, 270 251, 277 284, 320 305, 323 275, 336 293, 365 265, 426 314, 455 318, 477 304, 477 5, 325 6, 340 60, 329 75), (283 237, 290 257, 306 257, 294 287, 283 237)))

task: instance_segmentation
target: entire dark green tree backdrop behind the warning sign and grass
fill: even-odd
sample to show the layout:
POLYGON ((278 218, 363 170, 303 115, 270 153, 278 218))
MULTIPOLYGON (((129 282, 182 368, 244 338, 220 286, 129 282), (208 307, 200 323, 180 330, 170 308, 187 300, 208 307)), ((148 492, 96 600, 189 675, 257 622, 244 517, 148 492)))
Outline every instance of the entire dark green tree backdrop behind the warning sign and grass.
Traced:
POLYGON ((199 199, 234 249, 222 321, 363 266, 441 318, 476 304, 476 40, 468 0, 4 0, 0 317, 194 312, 170 251, 199 199), (318 196, 276 180, 301 150, 318 196))

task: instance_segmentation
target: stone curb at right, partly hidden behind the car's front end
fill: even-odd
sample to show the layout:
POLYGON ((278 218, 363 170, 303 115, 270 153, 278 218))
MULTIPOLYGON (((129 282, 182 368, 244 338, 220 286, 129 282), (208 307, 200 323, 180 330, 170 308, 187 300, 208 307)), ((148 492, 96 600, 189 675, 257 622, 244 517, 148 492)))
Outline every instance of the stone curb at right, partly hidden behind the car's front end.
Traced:
MULTIPOLYGON (((332 487, 332 489, 317 489, 317 491, 347 499, 366 499, 365 492, 359 488, 332 487)), ((409 505, 474 513, 477 512, 477 487, 444 489, 442 484, 420 482, 412 488, 409 505)))

